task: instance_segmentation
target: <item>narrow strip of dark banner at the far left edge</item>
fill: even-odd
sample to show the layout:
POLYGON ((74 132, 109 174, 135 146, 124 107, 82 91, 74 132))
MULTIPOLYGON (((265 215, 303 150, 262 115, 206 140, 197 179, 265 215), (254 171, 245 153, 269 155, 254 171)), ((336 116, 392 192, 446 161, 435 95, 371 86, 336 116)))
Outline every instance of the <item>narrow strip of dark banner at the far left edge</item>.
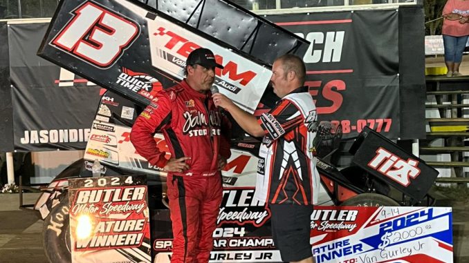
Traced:
POLYGON ((12 152, 13 150, 13 119, 7 28, 5 22, 0 22, 0 152, 12 152))

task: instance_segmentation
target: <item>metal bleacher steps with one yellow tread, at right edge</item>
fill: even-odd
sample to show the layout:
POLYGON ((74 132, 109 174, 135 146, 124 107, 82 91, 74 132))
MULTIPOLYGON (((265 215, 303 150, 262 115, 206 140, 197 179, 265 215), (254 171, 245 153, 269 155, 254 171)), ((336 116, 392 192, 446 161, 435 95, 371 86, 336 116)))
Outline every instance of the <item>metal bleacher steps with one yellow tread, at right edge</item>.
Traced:
POLYGON ((427 76, 426 86, 421 158, 439 170, 436 182, 469 183, 469 76, 427 76))

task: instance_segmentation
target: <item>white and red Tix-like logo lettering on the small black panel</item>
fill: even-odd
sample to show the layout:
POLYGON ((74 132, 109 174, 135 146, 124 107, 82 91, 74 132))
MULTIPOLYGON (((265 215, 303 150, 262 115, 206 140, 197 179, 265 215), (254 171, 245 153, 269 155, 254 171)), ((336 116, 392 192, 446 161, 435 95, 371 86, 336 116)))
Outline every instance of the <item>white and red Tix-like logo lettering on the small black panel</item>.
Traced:
POLYGON ((410 178, 415 179, 421 172, 418 167, 419 161, 412 158, 406 161, 383 147, 376 150, 376 156, 368 166, 403 186, 408 186, 410 178))

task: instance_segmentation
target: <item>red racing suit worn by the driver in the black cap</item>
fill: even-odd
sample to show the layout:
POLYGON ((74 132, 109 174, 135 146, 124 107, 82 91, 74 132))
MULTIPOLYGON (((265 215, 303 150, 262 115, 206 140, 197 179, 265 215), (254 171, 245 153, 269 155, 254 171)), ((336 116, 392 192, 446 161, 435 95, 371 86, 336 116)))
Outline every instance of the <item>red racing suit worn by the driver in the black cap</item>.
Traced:
POLYGON ((156 132, 163 133, 173 158, 191 157, 189 170, 167 175, 171 262, 209 260, 223 194, 219 155, 230 157, 225 129, 228 119, 214 106, 212 94, 196 92, 185 81, 159 92, 132 127, 131 142, 150 164, 163 168, 167 163, 156 146, 156 132))

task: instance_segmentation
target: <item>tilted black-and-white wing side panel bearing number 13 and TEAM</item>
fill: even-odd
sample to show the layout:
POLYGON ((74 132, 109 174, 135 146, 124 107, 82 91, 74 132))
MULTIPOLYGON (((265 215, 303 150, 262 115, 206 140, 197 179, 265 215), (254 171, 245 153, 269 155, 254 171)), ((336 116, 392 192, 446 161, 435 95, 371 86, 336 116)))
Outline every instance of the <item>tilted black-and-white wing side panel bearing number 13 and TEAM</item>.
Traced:
POLYGON ((215 85, 252 113, 271 71, 224 45, 137 1, 68 0, 59 3, 39 55, 147 105, 154 92, 183 79, 192 50, 210 48, 225 67, 217 68, 215 85), (140 78, 123 68, 138 72, 140 78))

